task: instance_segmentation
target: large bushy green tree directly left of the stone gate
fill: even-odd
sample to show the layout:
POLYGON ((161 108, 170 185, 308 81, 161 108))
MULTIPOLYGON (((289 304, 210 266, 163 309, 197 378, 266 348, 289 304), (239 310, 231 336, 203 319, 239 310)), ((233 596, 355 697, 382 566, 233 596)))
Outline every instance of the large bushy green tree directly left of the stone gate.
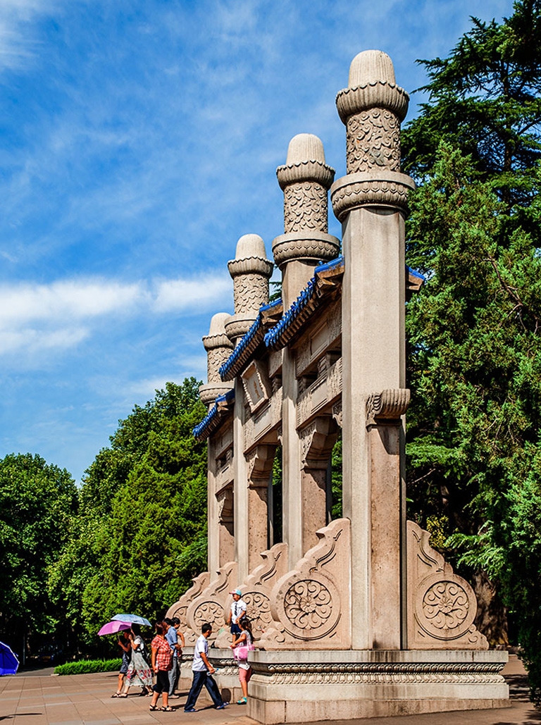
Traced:
POLYGON ((51 589, 87 643, 120 611, 162 614, 206 568, 206 446, 191 435, 205 415, 198 386, 168 383, 134 407, 86 471, 51 589))

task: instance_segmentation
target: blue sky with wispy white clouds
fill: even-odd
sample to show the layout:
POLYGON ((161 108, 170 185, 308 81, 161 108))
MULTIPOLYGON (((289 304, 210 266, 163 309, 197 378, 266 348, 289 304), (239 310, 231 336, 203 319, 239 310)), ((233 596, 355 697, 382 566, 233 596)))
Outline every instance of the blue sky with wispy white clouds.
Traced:
MULTIPOLYGON (((204 378, 244 233, 283 233, 296 133, 344 174, 336 92, 361 50, 397 83, 511 0, 1 0, 0 456, 76 480, 154 389, 204 378)), ((421 100, 414 94, 410 114, 421 100)), ((330 231, 339 234, 331 220, 330 231)))

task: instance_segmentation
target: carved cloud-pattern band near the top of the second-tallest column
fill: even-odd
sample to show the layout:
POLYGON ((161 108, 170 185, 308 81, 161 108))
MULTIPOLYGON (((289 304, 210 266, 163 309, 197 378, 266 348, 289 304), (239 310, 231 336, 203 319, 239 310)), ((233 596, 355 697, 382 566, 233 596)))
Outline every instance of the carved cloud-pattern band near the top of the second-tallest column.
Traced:
POLYGON ((284 188, 284 231, 327 231, 327 190, 313 181, 284 188))

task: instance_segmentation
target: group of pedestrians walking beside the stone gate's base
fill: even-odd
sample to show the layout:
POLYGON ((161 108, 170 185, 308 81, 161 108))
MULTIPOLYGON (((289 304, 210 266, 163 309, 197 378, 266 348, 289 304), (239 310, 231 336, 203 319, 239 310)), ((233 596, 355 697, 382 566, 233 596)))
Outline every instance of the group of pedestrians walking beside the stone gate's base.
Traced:
MULTIPOLYGON (((238 700, 238 704, 246 705, 248 682, 252 675, 252 668, 248 663, 248 652, 254 649, 253 634, 246 616, 246 602, 241 599, 241 590, 235 589, 230 594, 233 595, 233 602, 227 624, 231 627, 231 648, 239 664, 242 697, 238 700)), ((184 636, 180 626, 181 621, 178 618, 166 618, 156 622, 154 626, 156 633, 151 642, 150 661, 139 625, 132 624, 131 629, 120 634, 118 644, 123 650, 122 666, 118 675, 117 692, 112 697, 128 697, 128 690, 132 685, 136 685, 141 687, 141 696, 152 697, 149 710, 173 712, 169 698, 181 697, 181 695, 175 695, 184 647, 184 636), (154 684, 152 684, 153 679, 154 684), (162 696, 162 706, 158 707, 160 695, 162 696)), ((229 704, 223 701, 218 684, 212 677, 216 670, 208 659, 208 639, 211 634, 212 624, 203 624, 201 635, 194 647, 194 659, 191 665, 192 682, 184 705, 185 713, 195 712, 197 698, 203 687, 207 688, 216 710, 221 710, 229 704)))

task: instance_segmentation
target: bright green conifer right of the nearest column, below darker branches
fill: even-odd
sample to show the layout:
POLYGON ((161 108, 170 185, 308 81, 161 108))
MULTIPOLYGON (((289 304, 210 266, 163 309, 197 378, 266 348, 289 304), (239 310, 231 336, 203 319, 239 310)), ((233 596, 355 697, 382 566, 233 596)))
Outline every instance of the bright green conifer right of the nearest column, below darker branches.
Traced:
MULTIPOLYGON (((479 625, 493 644, 507 635, 501 600, 487 589, 500 589, 536 663, 541 260, 529 233, 503 235, 507 221, 490 182, 442 144, 408 222, 408 258, 428 278, 407 311, 409 514, 445 530, 451 558, 458 548, 463 573, 484 592, 479 625)), ((530 674, 538 696, 535 665, 530 674)))

